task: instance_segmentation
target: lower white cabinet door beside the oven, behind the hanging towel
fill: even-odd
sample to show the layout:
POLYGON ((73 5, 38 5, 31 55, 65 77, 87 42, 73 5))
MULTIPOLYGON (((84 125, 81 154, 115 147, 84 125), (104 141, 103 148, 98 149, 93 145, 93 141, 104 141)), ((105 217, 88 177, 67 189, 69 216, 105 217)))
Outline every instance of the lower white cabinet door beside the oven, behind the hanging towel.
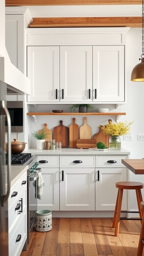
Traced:
POLYGON ((37 209, 59 211, 59 168, 42 168, 43 199, 37 200, 37 209))

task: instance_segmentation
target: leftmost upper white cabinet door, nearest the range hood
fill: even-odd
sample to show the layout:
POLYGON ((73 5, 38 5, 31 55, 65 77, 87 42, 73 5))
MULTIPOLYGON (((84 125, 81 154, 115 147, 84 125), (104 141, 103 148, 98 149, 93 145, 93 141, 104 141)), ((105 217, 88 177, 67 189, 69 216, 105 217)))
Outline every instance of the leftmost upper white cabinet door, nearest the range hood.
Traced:
POLYGON ((58 102, 59 46, 28 46, 27 77, 31 80, 28 102, 58 102))

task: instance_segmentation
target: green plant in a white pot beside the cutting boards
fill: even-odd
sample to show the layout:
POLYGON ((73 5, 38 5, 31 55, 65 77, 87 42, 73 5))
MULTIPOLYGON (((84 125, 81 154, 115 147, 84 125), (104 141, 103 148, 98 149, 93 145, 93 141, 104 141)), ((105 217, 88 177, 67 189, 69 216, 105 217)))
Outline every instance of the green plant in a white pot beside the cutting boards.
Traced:
POLYGON ((32 137, 34 137, 36 139, 36 148, 37 149, 44 149, 44 143, 45 143, 45 138, 46 138, 46 135, 48 133, 45 133, 44 130, 42 130, 42 132, 33 132, 31 133, 32 137))

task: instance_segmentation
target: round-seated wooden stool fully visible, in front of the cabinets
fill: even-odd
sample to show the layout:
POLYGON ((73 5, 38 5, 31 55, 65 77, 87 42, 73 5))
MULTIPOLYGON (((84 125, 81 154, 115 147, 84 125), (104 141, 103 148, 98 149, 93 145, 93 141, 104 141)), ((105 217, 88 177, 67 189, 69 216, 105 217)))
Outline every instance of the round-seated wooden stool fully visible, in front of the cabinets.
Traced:
MULTIPOLYGON (((112 227, 115 228, 115 236, 117 237, 118 231, 119 231, 123 189, 135 189, 136 190, 138 210, 139 210, 138 212, 139 212, 140 219, 142 219, 143 209, 141 209, 140 203, 142 202, 141 188, 143 188, 143 183, 131 182, 131 181, 121 181, 121 182, 116 183, 116 188, 118 188, 118 194, 117 194, 116 207, 115 207, 115 213, 114 213, 114 219, 112 222, 112 227)), ((127 212, 127 211, 125 211, 125 212, 127 212)))

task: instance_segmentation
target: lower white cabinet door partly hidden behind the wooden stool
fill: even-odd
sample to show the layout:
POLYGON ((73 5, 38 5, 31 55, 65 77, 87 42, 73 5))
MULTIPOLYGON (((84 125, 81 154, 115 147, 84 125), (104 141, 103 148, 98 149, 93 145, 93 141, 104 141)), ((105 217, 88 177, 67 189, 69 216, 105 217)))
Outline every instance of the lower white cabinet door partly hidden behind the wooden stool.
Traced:
MULTIPOLYGON (((115 210, 118 189, 116 182, 127 180, 127 168, 96 168, 96 210, 115 210), (99 171, 99 181, 98 181, 99 171)), ((122 208, 127 210, 127 190, 123 192, 122 208)))

